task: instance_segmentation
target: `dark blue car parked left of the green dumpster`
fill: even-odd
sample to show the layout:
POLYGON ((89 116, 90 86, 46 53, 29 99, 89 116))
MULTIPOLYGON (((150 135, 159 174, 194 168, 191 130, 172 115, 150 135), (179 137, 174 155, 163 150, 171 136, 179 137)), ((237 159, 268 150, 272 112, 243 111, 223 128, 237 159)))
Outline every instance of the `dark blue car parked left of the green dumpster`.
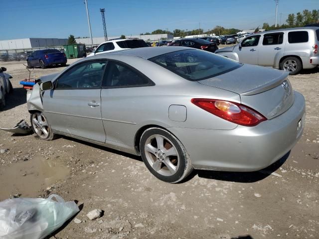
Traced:
POLYGON ((26 63, 29 68, 41 67, 45 69, 52 65, 65 66, 67 62, 65 53, 60 52, 57 49, 44 49, 33 51, 27 58, 26 63))

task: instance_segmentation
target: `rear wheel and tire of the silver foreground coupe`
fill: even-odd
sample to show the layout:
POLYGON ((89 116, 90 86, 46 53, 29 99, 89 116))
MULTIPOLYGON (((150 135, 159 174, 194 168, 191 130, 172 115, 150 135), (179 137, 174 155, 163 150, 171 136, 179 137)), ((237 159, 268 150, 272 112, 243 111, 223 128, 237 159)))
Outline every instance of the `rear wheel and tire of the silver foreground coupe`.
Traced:
POLYGON ((140 151, 146 167, 164 182, 180 182, 193 170, 184 146, 165 129, 153 127, 145 130, 140 140, 140 151))

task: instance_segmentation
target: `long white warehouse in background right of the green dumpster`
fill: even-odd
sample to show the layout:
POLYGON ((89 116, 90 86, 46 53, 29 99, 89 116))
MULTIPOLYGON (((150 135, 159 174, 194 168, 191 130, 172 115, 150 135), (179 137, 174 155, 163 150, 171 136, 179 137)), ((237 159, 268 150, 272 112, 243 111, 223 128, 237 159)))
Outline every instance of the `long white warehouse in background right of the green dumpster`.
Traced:
MULTIPOLYGON (((121 36, 110 36, 108 40, 117 39, 121 36)), ((145 41, 159 41, 160 39, 173 39, 172 34, 151 34, 151 35, 126 35, 127 38, 139 38, 145 41)), ((75 38, 77 43, 92 45, 91 38, 75 38)), ((93 37, 93 45, 100 45, 105 42, 104 37, 93 37)))

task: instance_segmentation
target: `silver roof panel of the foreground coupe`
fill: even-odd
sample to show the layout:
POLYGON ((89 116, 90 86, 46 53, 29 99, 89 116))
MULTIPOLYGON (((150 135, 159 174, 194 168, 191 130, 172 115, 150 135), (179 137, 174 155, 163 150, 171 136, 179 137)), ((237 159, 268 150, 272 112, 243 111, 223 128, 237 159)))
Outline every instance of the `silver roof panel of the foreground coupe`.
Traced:
MULTIPOLYGON (((141 57, 144 59, 150 59, 156 56, 160 56, 166 53, 174 52, 174 51, 181 51, 181 50, 192 50, 189 47, 182 47, 182 46, 167 46, 167 47, 140 47, 140 48, 132 48, 128 50, 110 52, 106 54, 99 54, 93 56, 95 59, 105 58, 106 55, 130 55, 141 57)), ((92 57, 92 58, 93 58, 92 57)))

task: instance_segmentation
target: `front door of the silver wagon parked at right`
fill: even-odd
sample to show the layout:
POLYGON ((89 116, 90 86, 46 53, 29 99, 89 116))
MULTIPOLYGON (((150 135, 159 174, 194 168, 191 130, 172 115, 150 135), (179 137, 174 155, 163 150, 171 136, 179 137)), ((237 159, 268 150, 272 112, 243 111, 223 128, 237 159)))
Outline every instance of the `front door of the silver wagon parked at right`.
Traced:
POLYGON ((238 54, 239 62, 258 65, 259 38, 260 35, 249 36, 234 47, 233 51, 238 54))

